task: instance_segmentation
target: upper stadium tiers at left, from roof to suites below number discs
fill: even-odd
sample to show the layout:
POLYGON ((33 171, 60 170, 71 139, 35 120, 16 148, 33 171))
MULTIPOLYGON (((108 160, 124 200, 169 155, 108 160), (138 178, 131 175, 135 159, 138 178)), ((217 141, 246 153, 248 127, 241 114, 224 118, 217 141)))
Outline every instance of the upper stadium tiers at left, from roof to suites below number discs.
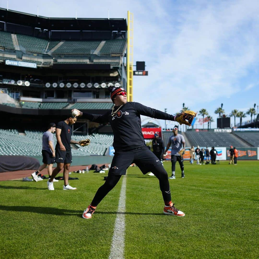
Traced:
POLYGON ((127 85, 126 32, 125 18, 48 18, 0 8, 0 90, 18 101, 0 103, 107 102, 108 85, 127 85))

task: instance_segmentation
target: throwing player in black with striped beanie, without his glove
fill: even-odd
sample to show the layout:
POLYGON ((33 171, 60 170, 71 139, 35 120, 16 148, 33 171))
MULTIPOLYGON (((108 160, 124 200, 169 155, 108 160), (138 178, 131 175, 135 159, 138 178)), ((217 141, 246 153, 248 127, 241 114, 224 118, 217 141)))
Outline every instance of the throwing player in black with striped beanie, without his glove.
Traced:
MULTIPOLYGON (((152 172, 158 179, 164 199, 163 213, 168 215, 184 216, 185 214, 174 207, 171 201, 171 192, 168 174, 159 158, 149 150, 141 131, 140 115, 151 118, 175 121, 175 116, 158 111, 136 102, 127 102, 127 93, 122 87, 110 87, 111 100, 115 104, 112 110, 103 115, 84 114, 86 119, 97 123, 111 124, 113 130, 114 157, 105 183, 97 190, 91 204, 84 210, 82 217, 90 219, 96 206, 118 183, 127 168, 135 163, 143 174, 152 172)), ((77 109, 78 116, 83 113, 77 109)), ((72 110, 72 111, 73 111, 72 110)))

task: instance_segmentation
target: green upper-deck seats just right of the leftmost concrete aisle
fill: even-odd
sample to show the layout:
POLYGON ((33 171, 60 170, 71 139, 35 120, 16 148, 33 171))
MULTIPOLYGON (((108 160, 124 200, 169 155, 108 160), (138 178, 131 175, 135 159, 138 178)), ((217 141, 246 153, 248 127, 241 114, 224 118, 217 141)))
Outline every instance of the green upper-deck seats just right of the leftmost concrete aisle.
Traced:
POLYGON ((16 36, 20 49, 24 48, 30 52, 45 53, 48 44, 47 40, 22 34, 16 34, 16 36))

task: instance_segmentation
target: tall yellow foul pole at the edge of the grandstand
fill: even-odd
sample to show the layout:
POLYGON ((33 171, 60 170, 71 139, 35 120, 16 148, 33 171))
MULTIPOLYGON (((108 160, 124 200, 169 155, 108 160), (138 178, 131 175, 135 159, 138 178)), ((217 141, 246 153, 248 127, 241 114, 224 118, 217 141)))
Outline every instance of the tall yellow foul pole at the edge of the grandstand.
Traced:
POLYGON ((127 96, 133 101, 133 13, 128 11, 127 26, 127 96))

